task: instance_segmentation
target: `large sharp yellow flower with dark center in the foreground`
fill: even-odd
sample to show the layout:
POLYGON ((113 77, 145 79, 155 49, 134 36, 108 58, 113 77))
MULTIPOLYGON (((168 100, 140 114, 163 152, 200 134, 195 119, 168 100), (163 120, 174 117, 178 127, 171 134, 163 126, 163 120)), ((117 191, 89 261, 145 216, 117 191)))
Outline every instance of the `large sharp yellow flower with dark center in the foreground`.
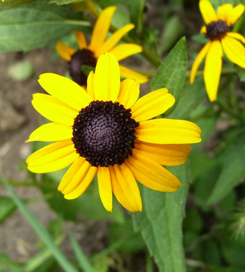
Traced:
POLYGON ((29 141, 55 141, 26 162, 32 172, 52 172, 72 164, 58 190, 65 198, 80 196, 97 173, 101 201, 112 211, 112 192, 129 211, 141 211, 135 179, 157 191, 176 191, 179 179, 161 165, 187 161, 187 143, 201 141, 200 128, 189 121, 152 119, 175 98, 158 89, 138 100, 139 83, 120 83, 119 64, 112 53, 101 55, 90 72, 87 91, 56 74, 42 74, 40 85, 50 95, 33 95, 34 108, 52 123, 37 128, 29 141))

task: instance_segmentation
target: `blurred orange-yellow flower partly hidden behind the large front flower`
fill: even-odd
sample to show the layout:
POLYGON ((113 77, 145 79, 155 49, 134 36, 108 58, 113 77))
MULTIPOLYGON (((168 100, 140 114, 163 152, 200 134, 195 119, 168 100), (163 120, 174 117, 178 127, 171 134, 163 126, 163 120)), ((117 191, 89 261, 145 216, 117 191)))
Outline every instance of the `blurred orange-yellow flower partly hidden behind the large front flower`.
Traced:
MULTIPOLYGON (((87 76, 82 70, 82 65, 96 66, 100 55, 105 52, 112 52, 117 60, 125 59, 130 55, 140 53, 142 47, 138 44, 123 43, 116 46, 119 40, 132 28, 133 24, 125 25, 116 32, 114 32, 107 40, 111 18, 115 12, 116 7, 110 6, 102 11, 94 26, 90 44, 87 46, 86 38, 83 32, 74 31, 79 50, 58 41, 56 44, 56 51, 58 54, 69 63, 70 76, 79 85, 85 86, 87 84, 87 76)), ((134 78, 139 83, 148 81, 148 77, 141 75, 129 68, 120 65, 120 74, 124 78, 134 78)))

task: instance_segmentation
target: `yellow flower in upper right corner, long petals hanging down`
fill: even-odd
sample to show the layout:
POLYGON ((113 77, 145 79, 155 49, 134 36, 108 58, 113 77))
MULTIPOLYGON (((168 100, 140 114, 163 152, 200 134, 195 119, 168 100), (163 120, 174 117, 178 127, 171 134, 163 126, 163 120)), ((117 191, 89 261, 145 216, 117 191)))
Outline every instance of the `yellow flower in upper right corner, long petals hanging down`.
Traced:
POLYGON ((245 43, 245 38, 232 32, 233 25, 243 14, 245 6, 239 4, 233 8, 232 4, 224 4, 218 7, 216 13, 208 0, 200 0, 199 8, 206 24, 200 32, 210 41, 205 44, 193 63, 190 83, 194 82, 196 71, 206 56, 204 81, 209 100, 212 102, 217 98, 223 51, 230 61, 245 68, 245 48, 242 44, 245 43))

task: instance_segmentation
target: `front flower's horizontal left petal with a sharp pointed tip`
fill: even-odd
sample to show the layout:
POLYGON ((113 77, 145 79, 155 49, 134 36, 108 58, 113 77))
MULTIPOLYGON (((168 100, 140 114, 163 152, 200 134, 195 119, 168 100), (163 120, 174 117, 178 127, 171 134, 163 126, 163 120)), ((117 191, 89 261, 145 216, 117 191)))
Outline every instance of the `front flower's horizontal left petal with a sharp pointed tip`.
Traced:
POLYGON ((72 138, 72 127, 59 123, 47 123, 32 132, 26 142, 55 142, 72 138))

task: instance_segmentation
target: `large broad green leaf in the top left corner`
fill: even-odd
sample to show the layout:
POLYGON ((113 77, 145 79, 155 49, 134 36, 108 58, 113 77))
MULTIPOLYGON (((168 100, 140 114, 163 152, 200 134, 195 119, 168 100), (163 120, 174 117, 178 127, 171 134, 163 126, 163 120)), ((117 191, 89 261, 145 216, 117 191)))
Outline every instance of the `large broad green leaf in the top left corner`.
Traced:
POLYGON ((0 52, 26 52, 75 29, 87 31, 90 23, 81 19, 71 6, 47 5, 45 0, 0 9, 0 52))

